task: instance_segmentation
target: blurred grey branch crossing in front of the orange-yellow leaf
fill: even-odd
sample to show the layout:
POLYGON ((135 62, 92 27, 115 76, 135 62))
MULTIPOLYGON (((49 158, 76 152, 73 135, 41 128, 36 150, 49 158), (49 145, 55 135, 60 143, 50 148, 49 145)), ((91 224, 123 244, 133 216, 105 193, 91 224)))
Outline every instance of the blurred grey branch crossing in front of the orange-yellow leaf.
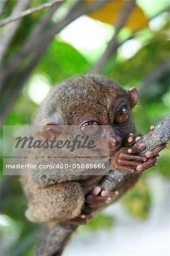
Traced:
POLYGON ((105 65, 106 61, 111 56, 113 49, 116 48, 119 31, 126 24, 127 19, 131 14, 131 11, 135 7, 135 3, 136 3, 135 0, 130 0, 130 1, 127 1, 127 3, 125 3, 125 6, 123 6, 123 9, 122 9, 121 13, 119 14, 117 24, 115 25, 115 32, 114 32, 113 38, 111 38, 110 42, 108 43, 107 48, 106 48, 105 52, 103 53, 101 59, 98 61, 96 66, 92 69, 93 73, 99 73, 101 71, 101 69, 105 65))

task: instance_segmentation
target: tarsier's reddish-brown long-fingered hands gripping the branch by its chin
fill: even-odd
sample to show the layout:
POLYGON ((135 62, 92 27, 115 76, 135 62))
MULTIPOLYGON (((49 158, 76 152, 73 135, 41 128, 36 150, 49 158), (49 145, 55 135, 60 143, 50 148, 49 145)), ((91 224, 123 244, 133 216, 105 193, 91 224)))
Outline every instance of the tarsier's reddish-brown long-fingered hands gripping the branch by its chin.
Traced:
MULTIPOLYGON (((151 126, 153 129, 153 126, 151 126)), ((140 137, 134 137, 130 134, 128 137, 128 146, 132 146, 140 137)), ((129 171, 129 172, 140 172, 147 170, 148 168, 157 165, 159 159, 159 152, 167 146, 164 143, 160 147, 155 148, 152 151, 147 151, 144 156, 133 154, 136 151, 143 151, 146 148, 146 144, 140 143, 136 147, 125 147, 120 148, 117 154, 111 159, 111 166, 117 170, 129 171)))

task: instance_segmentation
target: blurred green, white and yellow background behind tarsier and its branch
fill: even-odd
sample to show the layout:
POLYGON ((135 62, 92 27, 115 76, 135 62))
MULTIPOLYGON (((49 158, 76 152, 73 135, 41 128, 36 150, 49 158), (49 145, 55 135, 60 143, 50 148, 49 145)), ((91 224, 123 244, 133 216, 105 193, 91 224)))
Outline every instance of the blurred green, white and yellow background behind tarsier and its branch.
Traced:
MULTIPOLYGON (((35 11, 45 3, 0 3, 1 125, 31 124, 52 86, 90 72, 139 90, 140 133, 168 115, 168 0, 58 0, 35 11)), ((168 147, 132 191, 78 228, 63 255, 169 255, 169 167, 168 147)), ((1 157, 0 255, 33 255, 43 228, 24 216, 19 177, 2 172, 1 157)))

